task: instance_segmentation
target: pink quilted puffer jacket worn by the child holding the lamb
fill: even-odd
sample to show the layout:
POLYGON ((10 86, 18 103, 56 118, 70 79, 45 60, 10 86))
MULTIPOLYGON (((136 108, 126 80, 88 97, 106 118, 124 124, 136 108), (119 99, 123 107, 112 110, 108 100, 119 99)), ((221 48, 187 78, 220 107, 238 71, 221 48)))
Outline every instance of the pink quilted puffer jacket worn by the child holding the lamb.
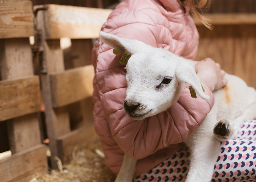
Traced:
MULTIPOLYGON (((186 10, 179 0, 126 0, 113 10, 101 30, 193 59, 199 36, 188 6, 184 7, 186 10)), ((132 120, 123 111, 125 66, 119 64, 121 54, 112 51, 101 39, 93 48, 94 126, 107 166, 117 174, 126 153, 139 159, 135 173, 139 175, 182 147, 180 143, 195 132, 211 110, 214 96, 205 86, 211 100, 194 99, 186 88, 167 111, 142 121, 132 120)))

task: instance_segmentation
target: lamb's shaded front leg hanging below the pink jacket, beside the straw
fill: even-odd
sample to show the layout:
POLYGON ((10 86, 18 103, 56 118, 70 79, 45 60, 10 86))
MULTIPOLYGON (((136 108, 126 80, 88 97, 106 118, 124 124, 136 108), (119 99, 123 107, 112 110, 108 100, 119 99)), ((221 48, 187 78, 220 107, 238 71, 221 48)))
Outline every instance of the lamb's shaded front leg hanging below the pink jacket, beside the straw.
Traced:
POLYGON ((115 182, 132 182, 137 160, 124 154, 121 169, 115 182))

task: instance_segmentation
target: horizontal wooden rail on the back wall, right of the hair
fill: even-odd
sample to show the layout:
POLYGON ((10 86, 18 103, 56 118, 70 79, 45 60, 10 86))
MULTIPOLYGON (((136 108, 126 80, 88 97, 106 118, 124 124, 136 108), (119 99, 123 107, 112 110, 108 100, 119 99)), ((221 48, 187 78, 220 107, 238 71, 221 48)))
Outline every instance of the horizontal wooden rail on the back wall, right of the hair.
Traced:
MULTIPOLYGON (((256 13, 212 13, 205 14, 212 25, 250 25, 256 24, 256 13)), ((194 18, 196 25, 203 25, 201 21, 194 18)))

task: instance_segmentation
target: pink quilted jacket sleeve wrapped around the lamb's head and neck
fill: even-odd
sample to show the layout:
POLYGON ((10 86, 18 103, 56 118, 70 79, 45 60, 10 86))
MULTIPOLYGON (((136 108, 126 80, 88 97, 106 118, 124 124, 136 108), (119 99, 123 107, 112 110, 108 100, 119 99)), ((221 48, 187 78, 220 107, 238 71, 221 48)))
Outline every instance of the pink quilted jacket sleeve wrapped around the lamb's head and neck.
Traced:
MULTIPOLYGON (((133 22, 126 20, 127 16, 124 16, 123 20, 118 17, 118 24, 107 23, 102 30, 158 47, 159 34, 154 21, 144 13, 129 13, 131 14, 128 17, 133 22), (145 21, 147 23, 141 23, 145 21), (110 24, 111 27, 108 26, 110 24)), ((115 18, 117 17, 108 21, 115 21, 115 18)), ((206 94, 211 97, 209 101, 203 100, 200 96, 197 96, 197 99, 192 98, 189 89, 186 88, 178 102, 167 111, 141 121, 129 118, 123 111, 127 85, 125 69, 119 64, 121 54, 114 55, 113 49, 101 40, 98 44, 100 48, 97 52, 95 94, 102 104, 114 140, 128 156, 142 159, 170 144, 183 142, 195 132, 210 112, 214 96, 205 86, 206 94)), ((100 127, 100 123, 95 123, 95 127, 100 127)))

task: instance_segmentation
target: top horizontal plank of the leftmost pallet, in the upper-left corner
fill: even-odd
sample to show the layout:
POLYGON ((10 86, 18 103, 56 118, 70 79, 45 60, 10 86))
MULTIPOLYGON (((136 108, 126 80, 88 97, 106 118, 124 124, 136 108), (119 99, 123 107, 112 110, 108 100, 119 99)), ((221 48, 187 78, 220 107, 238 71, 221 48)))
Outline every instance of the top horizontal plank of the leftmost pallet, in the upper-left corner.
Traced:
POLYGON ((29 0, 0 1, 0 38, 34 35, 32 2, 29 0))

